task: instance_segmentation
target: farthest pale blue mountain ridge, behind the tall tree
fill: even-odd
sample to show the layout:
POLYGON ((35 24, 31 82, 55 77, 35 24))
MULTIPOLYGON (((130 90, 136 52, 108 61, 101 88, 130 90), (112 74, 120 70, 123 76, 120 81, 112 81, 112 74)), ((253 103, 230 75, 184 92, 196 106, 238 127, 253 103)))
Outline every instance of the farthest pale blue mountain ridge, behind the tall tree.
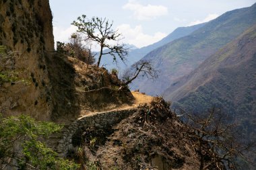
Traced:
POLYGON ((159 42, 142 48, 136 48, 135 46, 129 44, 127 47, 130 48, 130 51, 129 55, 127 56, 125 64, 118 58, 118 65, 116 65, 115 62, 113 62, 113 57, 110 55, 105 55, 102 57, 102 64, 106 66, 106 69, 117 68, 120 71, 124 71, 125 69, 133 65, 135 62, 143 58, 143 56, 146 56, 146 54, 148 54, 150 51, 155 50, 156 48, 163 46, 168 42, 172 42, 173 40, 176 40, 183 36, 187 36, 191 34, 191 32, 194 32, 195 30, 201 28, 202 26, 204 26, 204 24, 197 24, 195 26, 177 28, 159 42))

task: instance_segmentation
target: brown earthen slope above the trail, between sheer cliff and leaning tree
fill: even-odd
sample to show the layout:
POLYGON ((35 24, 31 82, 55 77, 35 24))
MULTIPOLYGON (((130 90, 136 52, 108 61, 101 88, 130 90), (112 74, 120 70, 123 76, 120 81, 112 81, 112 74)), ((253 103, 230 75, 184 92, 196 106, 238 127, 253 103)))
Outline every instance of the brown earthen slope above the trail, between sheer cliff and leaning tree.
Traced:
POLYGON ((59 53, 47 61, 55 91, 53 120, 67 117, 74 120, 92 111, 110 110, 133 103, 131 91, 127 87, 121 88, 117 76, 103 67, 87 65, 77 58, 59 53))

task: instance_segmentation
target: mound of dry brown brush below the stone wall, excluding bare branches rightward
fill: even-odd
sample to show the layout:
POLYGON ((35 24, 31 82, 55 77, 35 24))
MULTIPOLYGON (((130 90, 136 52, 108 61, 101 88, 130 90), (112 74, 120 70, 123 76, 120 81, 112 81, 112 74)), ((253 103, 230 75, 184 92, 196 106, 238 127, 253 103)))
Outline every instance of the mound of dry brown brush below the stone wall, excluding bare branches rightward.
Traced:
POLYGON ((197 156, 183 138, 185 126, 156 97, 112 130, 86 129, 78 142, 77 161, 98 169, 195 169, 197 156), (184 142, 180 142, 180 140, 184 142))

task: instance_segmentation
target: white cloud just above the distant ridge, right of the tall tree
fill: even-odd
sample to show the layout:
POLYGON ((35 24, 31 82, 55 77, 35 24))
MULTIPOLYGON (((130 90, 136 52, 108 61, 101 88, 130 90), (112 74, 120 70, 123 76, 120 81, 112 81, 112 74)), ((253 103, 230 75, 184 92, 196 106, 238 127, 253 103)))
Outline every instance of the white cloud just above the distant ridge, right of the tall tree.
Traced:
POLYGON ((153 36, 144 34, 141 26, 131 28, 129 24, 122 24, 118 26, 117 29, 119 32, 122 32, 125 37, 124 43, 133 44, 139 48, 158 42, 167 36, 167 34, 162 32, 156 32, 153 36))

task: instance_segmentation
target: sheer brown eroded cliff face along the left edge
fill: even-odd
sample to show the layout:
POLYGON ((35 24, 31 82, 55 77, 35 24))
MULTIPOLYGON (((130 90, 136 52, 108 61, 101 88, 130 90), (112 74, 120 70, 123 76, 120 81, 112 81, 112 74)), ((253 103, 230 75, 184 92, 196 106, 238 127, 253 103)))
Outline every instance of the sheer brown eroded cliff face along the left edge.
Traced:
POLYGON ((4 115, 24 113, 37 120, 51 118, 46 58, 51 58, 54 51, 52 19, 48 0, 0 1, 0 45, 16 52, 15 71, 29 82, 1 85, 0 109, 4 115))

